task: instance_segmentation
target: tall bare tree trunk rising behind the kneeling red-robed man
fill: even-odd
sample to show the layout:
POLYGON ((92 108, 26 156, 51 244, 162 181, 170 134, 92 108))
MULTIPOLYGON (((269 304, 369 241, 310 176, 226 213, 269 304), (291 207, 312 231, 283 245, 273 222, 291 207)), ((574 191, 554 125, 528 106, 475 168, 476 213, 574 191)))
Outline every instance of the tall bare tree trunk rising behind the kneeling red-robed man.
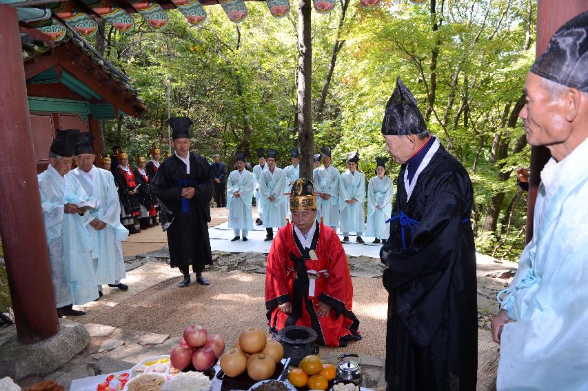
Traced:
POLYGON ((300 177, 312 178, 311 79, 312 37, 310 31, 310 0, 298 3, 298 148, 300 150, 300 177))

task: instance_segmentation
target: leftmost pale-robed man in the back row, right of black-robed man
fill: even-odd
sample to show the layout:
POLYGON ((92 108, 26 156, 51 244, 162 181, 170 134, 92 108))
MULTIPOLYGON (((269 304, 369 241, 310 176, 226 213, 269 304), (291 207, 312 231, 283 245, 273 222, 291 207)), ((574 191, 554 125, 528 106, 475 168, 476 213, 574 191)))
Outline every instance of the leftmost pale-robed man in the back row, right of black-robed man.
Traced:
POLYGON ((227 179, 227 209, 229 210, 229 228, 232 228, 235 237, 231 241, 238 241, 243 237, 247 241, 247 234, 253 230, 253 214, 251 201, 255 178, 253 174, 245 170, 245 153, 236 153, 237 169, 229 174, 227 179), (241 237, 239 237, 241 233, 241 237))

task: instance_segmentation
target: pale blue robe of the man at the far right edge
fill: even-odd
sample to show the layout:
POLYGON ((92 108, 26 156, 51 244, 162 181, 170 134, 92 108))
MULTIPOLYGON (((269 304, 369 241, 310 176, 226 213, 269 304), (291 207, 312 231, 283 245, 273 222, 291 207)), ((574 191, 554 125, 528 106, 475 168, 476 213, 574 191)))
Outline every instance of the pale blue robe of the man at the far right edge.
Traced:
POLYGON ((541 172, 533 239, 499 295, 498 390, 588 390, 588 139, 541 172))

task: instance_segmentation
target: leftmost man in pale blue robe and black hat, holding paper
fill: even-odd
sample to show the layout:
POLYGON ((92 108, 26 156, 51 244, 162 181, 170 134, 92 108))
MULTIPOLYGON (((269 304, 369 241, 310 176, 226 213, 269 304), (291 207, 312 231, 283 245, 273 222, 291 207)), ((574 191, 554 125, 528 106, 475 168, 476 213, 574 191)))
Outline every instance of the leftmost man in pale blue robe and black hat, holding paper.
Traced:
POLYGON ((85 229, 91 217, 79 181, 66 175, 72 168, 79 130, 58 130, 49 152, 49 166, 37 177, 49 250, 53 293, 60 317, 84 315, 73 305, 99 297, 90 251, 92 240, 85 229))

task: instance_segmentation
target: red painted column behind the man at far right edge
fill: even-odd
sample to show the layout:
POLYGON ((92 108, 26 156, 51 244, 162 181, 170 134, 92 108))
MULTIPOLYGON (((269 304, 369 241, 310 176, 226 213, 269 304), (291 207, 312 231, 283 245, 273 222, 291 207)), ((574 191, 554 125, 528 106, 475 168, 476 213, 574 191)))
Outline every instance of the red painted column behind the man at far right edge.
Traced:
MULTIPOLYGON (((551 36, 563 23, 588 10, 588 0, 538 0, 537 2, 537 41, 536 57, 545 52, 551 36)), ((535 200, 539 183, 540 172, 545 163, 551 158, 549 150, 545 147, 531 147, 531 177, 529 177, 529 203, 527 206, 527 238, 529 243, 533 238, 533 219, 535 200)))

